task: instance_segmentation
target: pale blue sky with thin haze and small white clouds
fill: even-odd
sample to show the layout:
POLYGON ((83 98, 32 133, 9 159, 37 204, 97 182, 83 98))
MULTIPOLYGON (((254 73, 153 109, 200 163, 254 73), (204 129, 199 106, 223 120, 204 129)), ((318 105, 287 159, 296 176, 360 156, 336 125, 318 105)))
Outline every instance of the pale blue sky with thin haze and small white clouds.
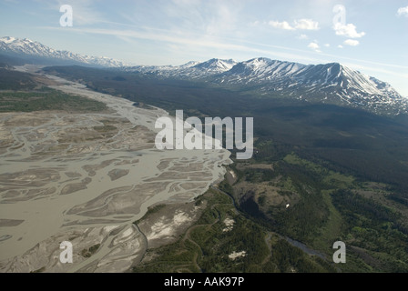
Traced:
POLYGON ((336 62, 408 96, 408 0, 0 0, 1 36, 129 65, 336 62))

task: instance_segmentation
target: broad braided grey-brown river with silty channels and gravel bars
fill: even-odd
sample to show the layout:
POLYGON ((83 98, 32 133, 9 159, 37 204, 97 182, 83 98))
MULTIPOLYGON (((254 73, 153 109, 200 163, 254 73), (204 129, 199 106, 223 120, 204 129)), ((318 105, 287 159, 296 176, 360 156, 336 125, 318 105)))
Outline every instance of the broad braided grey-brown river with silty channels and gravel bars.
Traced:
POLYGON ((0 272, 126 271, 147 247, 132 223, 149 206, 204 193, 230 152, 158 150, 164 110, 46 77, 108 110, 0 114, 0 272), (60 262, 62 241, 73 245, 71 264, 60 262))

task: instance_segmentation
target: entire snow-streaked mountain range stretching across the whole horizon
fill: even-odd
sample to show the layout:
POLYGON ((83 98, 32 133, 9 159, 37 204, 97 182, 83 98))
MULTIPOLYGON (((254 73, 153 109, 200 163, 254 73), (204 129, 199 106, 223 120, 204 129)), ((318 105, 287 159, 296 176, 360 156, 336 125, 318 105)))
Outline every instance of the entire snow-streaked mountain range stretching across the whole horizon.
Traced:
POLYGON ((221 86, 260 98, 287 97, 302 102, 342 105, 376 114, 408 113, 408 98, 392 85, 339 63, 303 65, 265 57, 191 61, 185 65, 129 66, 120 61, 54 50, 28 39, 0 38, 0 55, 35 60, 44 65, 87 65, 121 72, 221 86))

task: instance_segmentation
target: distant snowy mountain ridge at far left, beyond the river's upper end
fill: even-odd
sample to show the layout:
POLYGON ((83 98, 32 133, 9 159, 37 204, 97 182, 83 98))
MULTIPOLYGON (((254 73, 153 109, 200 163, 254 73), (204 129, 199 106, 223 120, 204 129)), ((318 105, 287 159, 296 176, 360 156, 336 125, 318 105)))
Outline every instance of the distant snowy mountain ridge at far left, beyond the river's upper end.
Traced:
POLYGON ((68 51, 58 51, 29 39, 5 36, 0 38, 0 54, 30 59, 38 64, 92 65, 120 67, 126 64, 108 57, 78 55, 68 51))

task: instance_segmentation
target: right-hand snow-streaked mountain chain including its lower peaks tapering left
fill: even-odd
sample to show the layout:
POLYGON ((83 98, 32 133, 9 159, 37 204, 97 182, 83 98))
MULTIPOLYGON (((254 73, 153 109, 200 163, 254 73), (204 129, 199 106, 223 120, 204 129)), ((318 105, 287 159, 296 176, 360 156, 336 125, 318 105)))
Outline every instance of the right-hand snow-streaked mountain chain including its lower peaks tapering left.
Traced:
POLYGON ((302 65, 259 57, 237 63, 211 59, 181 66, 127 67, 127 71, 227 86, 268 97, 347 105, 375 113, 408 112, 408 99, 393 87, 344 65, 302 65))

